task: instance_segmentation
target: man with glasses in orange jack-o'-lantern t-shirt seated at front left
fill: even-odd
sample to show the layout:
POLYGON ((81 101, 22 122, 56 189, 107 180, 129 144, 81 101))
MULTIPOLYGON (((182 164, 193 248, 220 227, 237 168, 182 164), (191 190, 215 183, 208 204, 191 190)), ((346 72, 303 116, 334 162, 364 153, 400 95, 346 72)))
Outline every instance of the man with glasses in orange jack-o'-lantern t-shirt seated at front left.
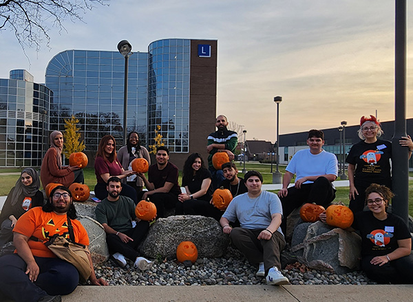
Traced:
MULTIPOLYGON (((43 207, 34 207, 17 220, 13 229, 17 254, 0 258, 0 290, 14 301, 61 301, 62 294, 70 294, 79 282, 75 266, 59 259, 44 242, 53 235, 67 235, 67 217, 73 226, 76 242, 89 245, 89 237, 81 222, 76 220, 76 209, 67 187, 55 187, 43 207), (38 240, 31 240, 31 237, 38 240)), ((96 279, 92 258, 88 253, 93 285, 105 285, 96 279)))

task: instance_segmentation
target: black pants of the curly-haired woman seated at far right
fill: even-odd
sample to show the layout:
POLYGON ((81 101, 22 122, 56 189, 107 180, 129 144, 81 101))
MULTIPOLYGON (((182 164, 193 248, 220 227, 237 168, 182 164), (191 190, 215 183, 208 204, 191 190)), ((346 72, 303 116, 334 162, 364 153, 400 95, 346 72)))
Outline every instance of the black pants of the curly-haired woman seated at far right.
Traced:
POLYGON ((383 266, 370 264, 374 256, 361 259, 361 269, 377 283, 413 284, 413 255, 392 260, 383 266))

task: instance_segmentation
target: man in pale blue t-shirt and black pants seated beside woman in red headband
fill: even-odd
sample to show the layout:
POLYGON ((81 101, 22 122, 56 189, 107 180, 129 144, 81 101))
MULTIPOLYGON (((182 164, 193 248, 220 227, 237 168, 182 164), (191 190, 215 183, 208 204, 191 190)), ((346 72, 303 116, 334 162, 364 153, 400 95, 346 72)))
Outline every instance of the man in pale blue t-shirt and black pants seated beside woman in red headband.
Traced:
POLYGON ((294 209, 306 202, 326 207, 335 198, 332 182, 338 174, 338 163, 335 154, 323 150, 324 132, 310 130, 307 145, 310 149, 299 150, 286 167, 282 181, 281 198, 284 219, 281 228, 286 233, 286 220, 294 209), (288 188, 296 174, 294 187, 288 188))

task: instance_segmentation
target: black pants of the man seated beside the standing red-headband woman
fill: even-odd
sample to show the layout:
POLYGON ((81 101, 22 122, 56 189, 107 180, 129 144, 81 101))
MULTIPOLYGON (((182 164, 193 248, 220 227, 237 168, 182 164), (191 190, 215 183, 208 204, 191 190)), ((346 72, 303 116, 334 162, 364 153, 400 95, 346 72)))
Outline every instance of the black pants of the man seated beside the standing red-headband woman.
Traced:
POLYGON ((306 202, 315 202, 317 205, 326 207, 334 198, 335 189, 333 189, 330 181, 324 176, 317 178, 314 183, 301 185, 301 189, 289 187, 287 196, 281 198, 283 213, 281 229, 284 235, 286 235, 287 217, 292 211, 297 209, 297 207, 306 202))

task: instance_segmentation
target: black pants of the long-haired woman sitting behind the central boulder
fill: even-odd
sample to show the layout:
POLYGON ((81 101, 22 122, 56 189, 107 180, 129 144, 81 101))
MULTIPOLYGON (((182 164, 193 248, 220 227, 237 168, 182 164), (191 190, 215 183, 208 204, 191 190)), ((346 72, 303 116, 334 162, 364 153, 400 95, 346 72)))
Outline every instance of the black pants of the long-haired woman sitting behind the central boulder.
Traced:
POLYGON ((190 199, 184 202, 178 201, 176 203, 175 215, 200 215, 205 217, 212 217, 220 222, 224 211, 220 211, 209 201, 200 199, 190 199))

